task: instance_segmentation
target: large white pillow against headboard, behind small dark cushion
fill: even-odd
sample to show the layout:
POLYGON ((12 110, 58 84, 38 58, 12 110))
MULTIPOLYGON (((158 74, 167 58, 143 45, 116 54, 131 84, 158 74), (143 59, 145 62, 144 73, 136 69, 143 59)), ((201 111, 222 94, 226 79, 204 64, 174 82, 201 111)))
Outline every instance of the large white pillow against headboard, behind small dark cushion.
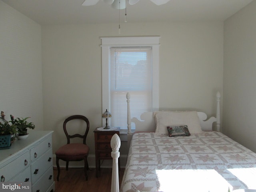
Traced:
POLYGON ((156 111, 156 134, 168 135, 167 126, 187 125, 191 134, 202 133, 200 121, 196 111, 156 111))

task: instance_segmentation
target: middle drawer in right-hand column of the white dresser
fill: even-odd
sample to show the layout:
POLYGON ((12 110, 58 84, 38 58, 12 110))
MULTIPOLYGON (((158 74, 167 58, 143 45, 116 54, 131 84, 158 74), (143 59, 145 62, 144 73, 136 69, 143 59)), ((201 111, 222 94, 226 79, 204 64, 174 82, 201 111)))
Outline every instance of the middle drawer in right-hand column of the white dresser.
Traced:
POLYGON ((32 183, 35 183, 48 168, 52 167, 52 150, 48 150, 38 160, 31 164, 32 183))

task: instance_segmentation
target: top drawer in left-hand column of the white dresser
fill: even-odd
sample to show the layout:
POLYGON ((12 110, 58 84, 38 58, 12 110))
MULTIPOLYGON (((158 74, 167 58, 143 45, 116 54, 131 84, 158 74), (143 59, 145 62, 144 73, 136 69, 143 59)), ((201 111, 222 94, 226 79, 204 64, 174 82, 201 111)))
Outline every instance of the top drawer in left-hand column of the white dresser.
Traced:
POLYGON ((0 179, 1 181, 10 181, 10 179, 16 176, 17 173, 21 172, 29 166, 30 154, 29 151, 27 151, 0 169, 0 179))

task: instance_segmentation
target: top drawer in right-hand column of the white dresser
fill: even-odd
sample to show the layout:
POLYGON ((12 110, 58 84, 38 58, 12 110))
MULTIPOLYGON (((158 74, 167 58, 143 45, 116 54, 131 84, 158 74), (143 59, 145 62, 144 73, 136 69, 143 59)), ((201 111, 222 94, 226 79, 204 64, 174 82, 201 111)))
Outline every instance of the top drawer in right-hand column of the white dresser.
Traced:
POLYGON ((48 137, 30 150, 31 162, 39 159, 50 148, 52 148, 52 138, 48 137))

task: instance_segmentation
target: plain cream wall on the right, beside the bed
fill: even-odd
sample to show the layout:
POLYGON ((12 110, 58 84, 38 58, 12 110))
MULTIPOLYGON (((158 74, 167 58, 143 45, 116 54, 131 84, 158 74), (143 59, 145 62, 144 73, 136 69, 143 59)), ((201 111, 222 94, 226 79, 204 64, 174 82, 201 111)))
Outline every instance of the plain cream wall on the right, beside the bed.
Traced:
POLYGON ((256 152, 256 1, 224 22, 224 133, 256 152))

